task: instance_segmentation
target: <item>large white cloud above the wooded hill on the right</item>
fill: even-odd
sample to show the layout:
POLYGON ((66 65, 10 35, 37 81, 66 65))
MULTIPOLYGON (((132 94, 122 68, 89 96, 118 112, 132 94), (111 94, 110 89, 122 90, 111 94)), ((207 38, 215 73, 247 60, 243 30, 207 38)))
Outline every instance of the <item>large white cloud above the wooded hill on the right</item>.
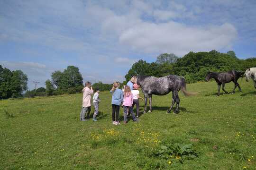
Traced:
POLYGON ((192 27, 183 24, 141 23, 124 31, 120 43, 145 52, 172 52, 179 56, 188 51, 223 49, 236 39, 237 30, 231 24, 221 26, 192 27))

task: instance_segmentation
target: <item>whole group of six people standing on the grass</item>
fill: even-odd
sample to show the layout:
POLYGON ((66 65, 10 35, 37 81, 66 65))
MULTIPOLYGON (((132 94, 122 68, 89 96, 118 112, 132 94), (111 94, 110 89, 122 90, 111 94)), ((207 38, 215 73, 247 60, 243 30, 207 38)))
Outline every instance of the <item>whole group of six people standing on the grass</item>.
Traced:
MULTIPOLYGON (((127 85, 123 86, 123 89, 119 89, 120 84, 118 82, 114 82, 110 93, 112 94, 112 124, 119 125, 119 110, 122 105, 124 110, 124 124, 128 122, 128 117, 131 114, 132 120, 137 122, 139 116, 139 99, 144 100, 139 96, 139 85, 133 81, 133 78, 127 83, 127 85), (136 105, 137 109, 137 117, 133 112, 133 107, 136 105)), ((86 121, 89 119, 89 114, 91 111, 91 94, 93 93, 93 89, 91 87, 90 82, 85 83, 85 87, 82 89, 83 98, 82 98, 82 110, 80 113, 80 120, 86 121)), ((99 102, 101 102, 99 98, 100 91, 95 89, 95 93, 93 95, 93 106, 94 106, 94 114, 92 121, 97 121, 96 116, 99 113, 99 102)))

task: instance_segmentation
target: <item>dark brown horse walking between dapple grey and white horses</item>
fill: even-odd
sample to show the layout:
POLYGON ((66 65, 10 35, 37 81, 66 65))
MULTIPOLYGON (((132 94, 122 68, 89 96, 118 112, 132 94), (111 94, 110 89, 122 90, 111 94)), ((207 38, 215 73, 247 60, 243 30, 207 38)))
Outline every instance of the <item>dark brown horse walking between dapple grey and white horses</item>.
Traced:
POLYGON ((222 85, 222 90, 225 93, 229 93, 225 90, 225 84, 229 82, 234 82, 235 87, 232 91, 232 93, 235 93, 236 88, 238 87, 239 91, 242 92, 240 85, 238 84, 238 79, 244 75, 244 72, 238 72, 238 71, 228 71, 228 72, 222 72, 222 73, 217 73, 217 72, 208 72, 208 75, 205 78, 205 81, 209 81, 210 78, 214 78, 216 83, 218 84, 218 94, 220 91, 220 85, 222 85))

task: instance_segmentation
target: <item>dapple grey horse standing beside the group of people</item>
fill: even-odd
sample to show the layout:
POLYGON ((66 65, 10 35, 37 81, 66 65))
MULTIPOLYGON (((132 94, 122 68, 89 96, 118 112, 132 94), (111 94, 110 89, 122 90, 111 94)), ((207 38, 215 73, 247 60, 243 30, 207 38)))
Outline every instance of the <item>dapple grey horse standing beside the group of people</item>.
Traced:
POLYGON ((176 109, 174 113, 179 112, 180 98, 178 92, 182 89, 185 96, 193 95, 196 93, 189 93, 186 91, 185 78, 182 76, 168 75, 164 77, 154 77, 154 76, 136 76, 137 84, 140 85, 142 92, 145 97, 145 108, 144 113, 146 113, 147 98, 149 98, 149 112, 152 112, 152 94, 155 95, 165 95, 170 92, 173 93, 173 101, 167 113, 173 109, 176 103, 176 109))

